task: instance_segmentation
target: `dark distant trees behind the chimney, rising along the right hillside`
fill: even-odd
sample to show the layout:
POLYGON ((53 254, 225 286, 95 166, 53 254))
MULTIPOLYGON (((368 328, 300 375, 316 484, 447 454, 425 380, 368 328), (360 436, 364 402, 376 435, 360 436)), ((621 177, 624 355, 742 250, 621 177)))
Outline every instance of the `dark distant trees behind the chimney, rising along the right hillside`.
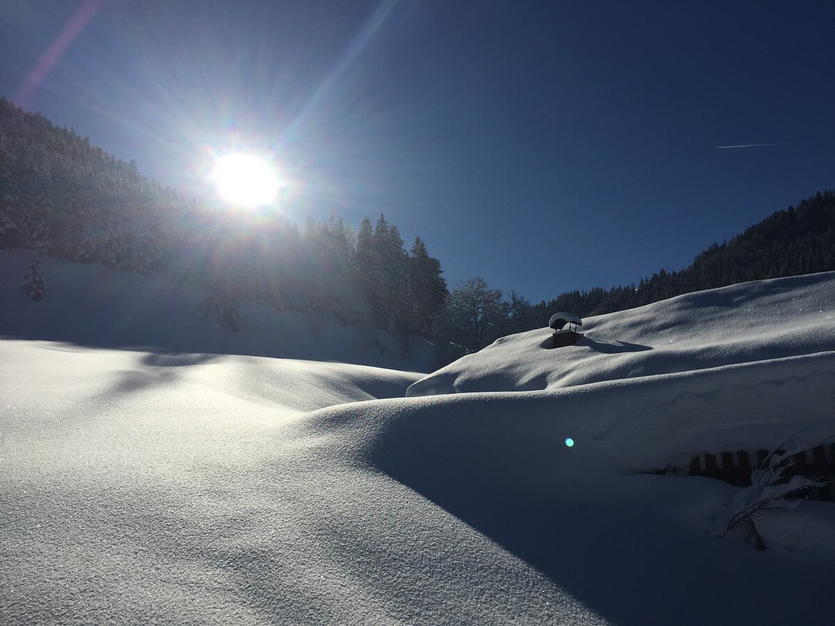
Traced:
POLYGON ((498 337, 546 325, 554 313, 597 316, 648 305, 693 291, 747 280, 835 270, 835 192, 817 193, 746 229, 730 241, 711 245, 680 271, 659 270, 637 285, 574 290, 531 305, 511 292, 489 289, 480 277, 463 280, 450 293, 435 321, 433 339, 441 362, 489 346, 498 337))

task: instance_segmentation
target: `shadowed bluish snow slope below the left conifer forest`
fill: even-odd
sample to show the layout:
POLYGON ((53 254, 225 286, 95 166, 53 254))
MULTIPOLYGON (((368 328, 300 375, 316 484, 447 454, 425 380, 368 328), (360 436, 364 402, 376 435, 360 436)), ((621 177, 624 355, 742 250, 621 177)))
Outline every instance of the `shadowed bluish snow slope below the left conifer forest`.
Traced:
POLYGON ((42 264, 47 298, 33 302, 20 290, 30 257, 0 251, 0 336, 431 371, 433 348, 426 341, 412 341, 403 356, 386 333, 292 311, 243 305, 249 326, 234 333, 200 318, 202 291, 164 275, 145 278, 48 258, 42 264))

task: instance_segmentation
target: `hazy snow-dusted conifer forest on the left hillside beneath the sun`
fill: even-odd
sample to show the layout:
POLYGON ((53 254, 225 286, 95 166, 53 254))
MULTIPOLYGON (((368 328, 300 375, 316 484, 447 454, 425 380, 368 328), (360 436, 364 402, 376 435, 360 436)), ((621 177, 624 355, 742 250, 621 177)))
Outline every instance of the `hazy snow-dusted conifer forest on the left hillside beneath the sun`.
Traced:
POLYGON ((447 295, 440 262, 411 250, 383 215, 357 231, 337 215, 300 229, 265 207, 230 211, 185 199, 72 130, 0 98, 0 248, 32 250, 23 290, 48 296, 42 255, 203 285, 205 316, 234 331, 239 303, 371 321, 429 337, 447 295))

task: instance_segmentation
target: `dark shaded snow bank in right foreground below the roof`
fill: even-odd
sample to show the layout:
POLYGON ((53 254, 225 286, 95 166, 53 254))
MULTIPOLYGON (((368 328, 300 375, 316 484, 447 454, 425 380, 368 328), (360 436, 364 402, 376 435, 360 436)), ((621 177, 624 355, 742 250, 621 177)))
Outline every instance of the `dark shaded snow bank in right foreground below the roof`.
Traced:
POLYGON ((736 487, 642 472, 798 431, 821 442, 835 432, 832 406, 835 351, 361 402, 300 426, 318 453, 409 487, 613 623, 782 623, 797 603, 812 621, 827 614, 818 598, 835 576, 835 506, 758 518, 769 550, 757 553, 714 537, 736 487))

